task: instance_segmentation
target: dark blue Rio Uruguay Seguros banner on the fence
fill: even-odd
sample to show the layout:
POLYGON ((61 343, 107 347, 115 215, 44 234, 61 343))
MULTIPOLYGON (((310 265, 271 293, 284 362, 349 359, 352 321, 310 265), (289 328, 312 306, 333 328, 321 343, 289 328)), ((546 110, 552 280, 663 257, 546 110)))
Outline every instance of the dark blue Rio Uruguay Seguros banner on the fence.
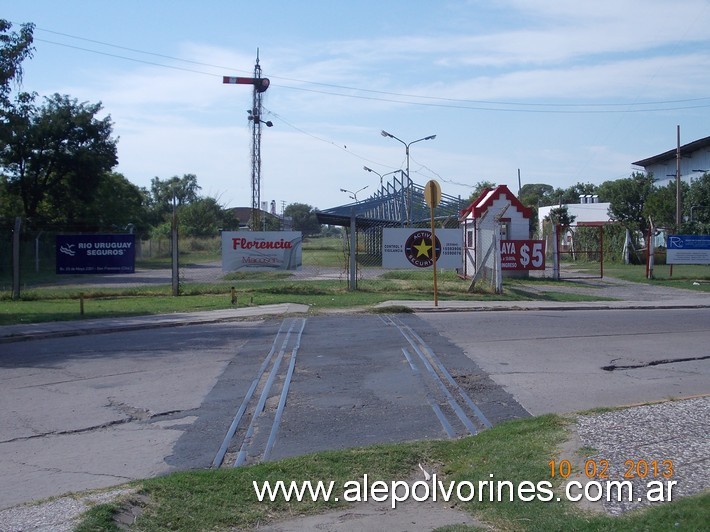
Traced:
POLYGON ((134 235, 57 235, 57 273, 135 273, 134 235))

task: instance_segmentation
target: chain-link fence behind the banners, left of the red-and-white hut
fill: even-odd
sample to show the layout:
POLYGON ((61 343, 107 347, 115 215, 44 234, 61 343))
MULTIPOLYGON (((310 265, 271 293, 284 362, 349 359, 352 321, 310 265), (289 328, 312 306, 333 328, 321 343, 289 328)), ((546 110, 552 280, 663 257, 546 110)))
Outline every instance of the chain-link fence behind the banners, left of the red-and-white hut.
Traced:
MULTIPOLYGON (((404 281, 430 286, 431 268, 418 270, 383 267, 383 231, 389 226, 389 223, 357 224, 354 233, 350 227, 335 227, 330 228, 327 236, 305 237, 302 243, 301 267, 297 270, 280 271, 223 271, 222 243, 219 236, 178 236, 178 292, 228 292, 232 286, 261 281, 282 285, 302 285, 319 281, 327 282, 335 289, 363 291, 393 290, 404 281)), ((136 237, 134 273, 60 274, 57 273, 56 267, 56 238, 58 235, 67 234, 77 233, 63 227, 21 227, 16 237, 13 227, 4 227, 0 235, 2 297, 7 299, 11 293, 20 297, 21 294, 26 295, 28 291, 33 290, 68 288, 79 291, 89 287, 94 290, 164 287, 169 293, 168 288, 174 278, 171 239, 136 237), (16 258, 13 253, 14 244, 19 250, 16 258), (19 268, 18 294, 14 293, 13 286, 16 280, 15 260, 19 268)), ((445 273, 463 283, 457 277, 455 269, 445 273)))

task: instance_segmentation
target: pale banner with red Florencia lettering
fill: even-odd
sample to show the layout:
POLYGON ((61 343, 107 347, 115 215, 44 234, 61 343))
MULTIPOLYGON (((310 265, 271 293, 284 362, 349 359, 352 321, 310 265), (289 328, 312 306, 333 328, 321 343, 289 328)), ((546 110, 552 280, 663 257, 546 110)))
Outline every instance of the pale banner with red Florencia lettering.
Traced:
POLYGON ((222 271, 300 270, 302 240, 297 231, 224 231, 222 271))

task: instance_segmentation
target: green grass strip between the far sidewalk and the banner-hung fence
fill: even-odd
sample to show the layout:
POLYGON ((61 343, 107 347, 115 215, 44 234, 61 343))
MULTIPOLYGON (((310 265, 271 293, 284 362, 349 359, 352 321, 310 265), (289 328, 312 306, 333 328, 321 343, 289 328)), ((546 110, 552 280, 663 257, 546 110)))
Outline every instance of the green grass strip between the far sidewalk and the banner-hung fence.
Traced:
MULTIPOLYGON (((173 297, 170 285, 129 288, 37 287, 22 291, 21 299, 11 300, 9 291, 0 291, 0 325, 41 323, 88 318, 141 316, 221 310, 233 307, 301 303, 313 311, 331 308, 368 307, 388 300, 433 300, 431 275, 421 272, 391 272, 383 280, 367 280, 358 290, 348 290, 345 280, 292 281, 275 272, 260 272, 242 279, 240 274, 218 283, 181 285, 181 296, 173 297), (234 288, 236 305, 232 305, 234 288), (84 295, 84 314, 80 296, 84 295)), ((290 274, 286 274, 290 276, 290 274)), ((599 301, 594 296, 533 290, 520 281, 504 285, 503 294, 468 291, 469 281, 444 272, 439 281, 439 300, 460 301, 599 301)))

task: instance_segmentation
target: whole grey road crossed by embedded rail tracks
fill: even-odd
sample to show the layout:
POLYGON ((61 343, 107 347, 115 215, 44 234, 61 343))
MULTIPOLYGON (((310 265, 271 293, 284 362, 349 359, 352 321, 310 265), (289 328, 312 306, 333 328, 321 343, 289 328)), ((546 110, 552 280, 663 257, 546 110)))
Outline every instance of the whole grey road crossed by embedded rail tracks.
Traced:
POLYGON ((0 508, 176 469, 708 393, 709 318, 337 315, 3 344, 0 508))

